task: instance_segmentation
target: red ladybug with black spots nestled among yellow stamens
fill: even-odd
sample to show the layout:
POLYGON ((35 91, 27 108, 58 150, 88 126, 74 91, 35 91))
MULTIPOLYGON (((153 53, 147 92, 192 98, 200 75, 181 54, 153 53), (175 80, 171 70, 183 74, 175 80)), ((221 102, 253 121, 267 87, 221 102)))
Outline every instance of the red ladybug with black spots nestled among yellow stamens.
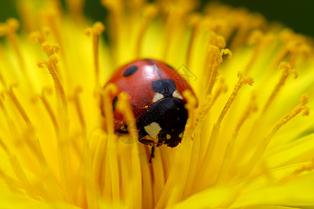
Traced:
MULTIPOLYGON (((129 95, 137 125, 137 138, 154 148, 165 144, 174 148, 181 143, 188 111, 182 93, 192 88, 170 65, 154 59, 140 59, 121 67, 107 82, 118 86, 119 92, 129 95)), ((105 86, 107 85, 105 84, 105 86)), ((128 134, 121 112, 117 111, 118 97, 113 97, 114 128, 117 134, 128 134)), ((149 160, 151 162, 151 159, 149 160)))

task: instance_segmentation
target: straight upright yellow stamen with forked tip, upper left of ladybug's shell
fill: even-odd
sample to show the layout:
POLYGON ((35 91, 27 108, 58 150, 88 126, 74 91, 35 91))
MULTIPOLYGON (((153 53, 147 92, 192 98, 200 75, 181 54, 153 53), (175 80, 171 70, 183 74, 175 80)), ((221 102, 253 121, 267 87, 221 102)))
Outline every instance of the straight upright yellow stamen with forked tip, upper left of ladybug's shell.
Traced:
POLYGON ((85 33, 88 36, 91 36, 91 41, 93 42, 93 53, 94 53, 94 68, 95 68, 95 80, 96 86, 99 86, 99 61, 98 61, 98 45, 99 45, 99 36, 105 30, 105 26, 101 22, 96 22, 90 28, 88 28, 85 33))

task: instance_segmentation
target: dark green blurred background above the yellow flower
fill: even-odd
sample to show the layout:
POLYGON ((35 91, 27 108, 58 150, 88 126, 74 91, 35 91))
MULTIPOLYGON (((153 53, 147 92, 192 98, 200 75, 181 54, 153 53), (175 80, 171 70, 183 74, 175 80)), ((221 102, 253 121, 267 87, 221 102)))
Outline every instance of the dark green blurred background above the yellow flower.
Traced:
MULTIPOLYGON (((209 1, 201 2, 204 5, 209 1)), ((220 0, 220 2, 246 7, 252 12, 262 13, 267 20, 281 22, 297 33, 314 37, 314 0, 220 0)), ((100 0, 87 0, 85 5, 85 13, 92 20, 104 19, 106 11, 100 6, 100 0)), ((18 17, 15 0, 0 0, 0 22, 8 17, 18 17)))

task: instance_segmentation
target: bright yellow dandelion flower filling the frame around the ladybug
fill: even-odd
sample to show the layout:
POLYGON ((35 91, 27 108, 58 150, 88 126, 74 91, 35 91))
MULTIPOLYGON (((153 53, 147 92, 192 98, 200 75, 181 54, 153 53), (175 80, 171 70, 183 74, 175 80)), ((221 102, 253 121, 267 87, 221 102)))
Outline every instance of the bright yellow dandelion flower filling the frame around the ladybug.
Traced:
POLYGON ((103 0, 93 24, 66 2, 19 1, 21 22, 0 25, 0 208, 314 207, 313 40, 219 3, 103 0), (151 163, 114 134, 103 89, 143 58, 196 96, 181 144, 151 163))

